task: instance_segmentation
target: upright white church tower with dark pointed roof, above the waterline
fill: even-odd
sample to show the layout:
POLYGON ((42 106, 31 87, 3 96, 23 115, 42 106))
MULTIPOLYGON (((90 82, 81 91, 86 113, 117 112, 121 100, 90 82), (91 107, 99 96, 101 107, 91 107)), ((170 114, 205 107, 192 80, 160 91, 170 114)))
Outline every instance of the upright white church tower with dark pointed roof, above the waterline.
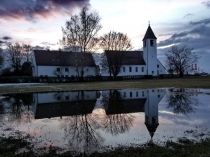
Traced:
POLYGON ((146 63, 147 75, 157 76, 157 38, 150 25, 143 38, 143 58, 146 63))

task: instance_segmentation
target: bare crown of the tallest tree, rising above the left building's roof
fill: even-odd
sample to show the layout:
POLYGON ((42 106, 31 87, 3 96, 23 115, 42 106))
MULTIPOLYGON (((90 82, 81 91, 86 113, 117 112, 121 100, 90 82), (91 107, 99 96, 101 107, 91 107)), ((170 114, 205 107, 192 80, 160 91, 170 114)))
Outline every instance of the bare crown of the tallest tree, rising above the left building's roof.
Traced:
POLYGON ((88 12, 85 7, 79 15, 72 16, 62 28, 63 39, 61 44, 64 48, 79 46, 82 52, 86 52, 95 46, 93 44, 98 31, 102 28, 100 17, 97 12, 88 12))

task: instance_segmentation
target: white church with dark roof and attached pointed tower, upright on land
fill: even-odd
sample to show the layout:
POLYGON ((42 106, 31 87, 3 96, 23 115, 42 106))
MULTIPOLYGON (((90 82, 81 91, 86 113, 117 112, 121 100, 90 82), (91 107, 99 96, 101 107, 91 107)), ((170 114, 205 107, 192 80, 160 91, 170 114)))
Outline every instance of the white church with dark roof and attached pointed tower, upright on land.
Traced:
MULTIPOLYGON (((143 38, 143 51, 105 51, 106 58, 111 53, 123 53, 122 67, 117 76, 138 76, 166 74, 166 69, 157 59, 157 38, 150 25, 143 38)), ((102 76, 110 76, 108 68, 102 69, 102 76)), ((112 75, 113 76, 113 75, 112 75)))

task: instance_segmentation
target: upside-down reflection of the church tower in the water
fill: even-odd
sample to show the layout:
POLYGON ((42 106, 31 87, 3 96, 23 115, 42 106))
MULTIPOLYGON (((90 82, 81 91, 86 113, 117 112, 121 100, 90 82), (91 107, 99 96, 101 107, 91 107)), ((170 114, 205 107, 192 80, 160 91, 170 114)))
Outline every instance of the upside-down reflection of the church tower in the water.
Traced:
POLYGON ((150 133, 151 138, 153 137, 159 123, 158 123, 158 97, 157 93, 153 93, 154 90, 147 90, 148 97, 145 103, 145 125, 150 133))

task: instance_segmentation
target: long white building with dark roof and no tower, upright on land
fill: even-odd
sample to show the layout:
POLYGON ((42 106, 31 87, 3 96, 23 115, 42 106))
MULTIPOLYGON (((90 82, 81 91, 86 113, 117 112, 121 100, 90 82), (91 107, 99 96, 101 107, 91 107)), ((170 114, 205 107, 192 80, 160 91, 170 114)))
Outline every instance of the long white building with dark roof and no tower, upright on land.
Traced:
POLYGON ((80 77, 96 76, 98 66, 91 53, 34 50, 33 76, 80 77))

